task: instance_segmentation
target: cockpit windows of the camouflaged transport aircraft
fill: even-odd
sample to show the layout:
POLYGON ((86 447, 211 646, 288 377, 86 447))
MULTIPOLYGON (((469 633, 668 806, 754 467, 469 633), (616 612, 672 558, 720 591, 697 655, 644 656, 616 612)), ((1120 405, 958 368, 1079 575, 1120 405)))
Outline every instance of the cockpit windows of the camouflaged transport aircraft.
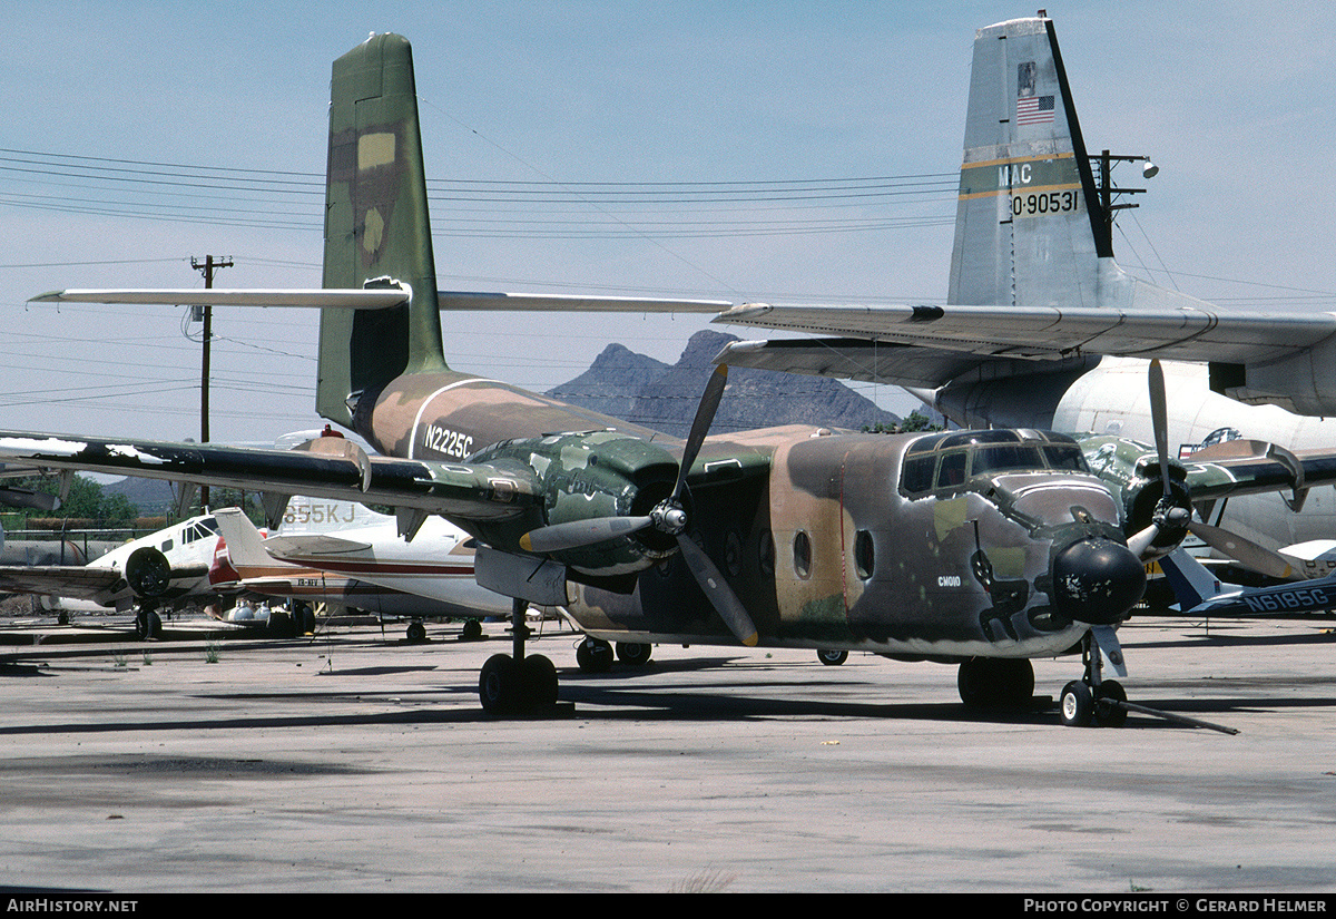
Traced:
POLYGON ((1010 429, 934 434, 906 450, 900 494, 958 489, 974 476, 1050 469, 1090 472, 1081 447, 1065 434, 1010 429))

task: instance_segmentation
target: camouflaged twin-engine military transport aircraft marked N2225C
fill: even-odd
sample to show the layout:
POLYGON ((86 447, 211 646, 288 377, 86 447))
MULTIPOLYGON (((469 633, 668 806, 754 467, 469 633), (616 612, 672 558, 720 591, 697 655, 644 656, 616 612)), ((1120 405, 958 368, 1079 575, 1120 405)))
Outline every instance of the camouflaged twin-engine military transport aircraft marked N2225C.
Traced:
POLYGON ((1101 667, 1124 672, 1113 626, 1142 593, 1142 556, 1182 530, 1158 492, 1166 457, 1158 480, 1150 470, 1129 486, 1152 482, 1158 506, 1137 521, 1132 550, 1129 496, 1116 498, 1061 434, 788 426, 707 437, 720 366, 683 442, 452 371, 446 306, 727 305, 438 293, 407 41, 373 36, 341 57, 331 96, 323 289, 47 299, 321 307, 317 407, 383 455, 331 437, 274 451, 0 433, 0 458, 261 488, 273 512, 291 494, 353 497, 395 506, 406 534, 446 517, 480 542, 478 584, 516 598, 514 655, 493 656, 478 680, 490 712, 557 697, 553 664, 525 655, 528 601, 562 605, 609 641, 953 663, 962 699, 979 707, 1027 705, 1029 659, 1079 648, 1085 672, 1063 691, 1063 720, 1125 717, 1101 667))

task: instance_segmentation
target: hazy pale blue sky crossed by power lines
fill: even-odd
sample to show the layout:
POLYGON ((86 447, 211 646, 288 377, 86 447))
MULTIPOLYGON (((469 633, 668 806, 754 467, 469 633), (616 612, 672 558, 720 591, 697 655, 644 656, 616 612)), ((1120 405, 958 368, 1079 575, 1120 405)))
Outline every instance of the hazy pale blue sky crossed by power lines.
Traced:
MULTIPOLYGON (((1336 182, 1317 154, 1336 126, 1336 8, 1046 9, 1089 148, 1161 167, 1120 219, 1120 263, 1217 302, 1333 309, 1336 182)), ((1034 12, 12 1, 0 59, 0 427, 198 437, 199 346, 183 310, 25 301, 61 287, 202 286, 190 256, 206 254, 236 262, 218 286, 318 286, 330 63, 373 31, 414 45, 442 289, 941 302, 974 31, 1034 12), (238 170, 257 171, 244 174, 254 183, 238 183, 238 170), (754 200, 723 186, 717 200, 688 202, 703 196, 695 184, 656 204, 612 204, 576 184, 776 192, 892 176, 903 192, 915 175, 946 186, 754 200), (481 188, 518 200, 456 194, 481 188)), ((445 325, 452 366, 538 390, 609 342, 673 361, 707 327, 705 317, 548 314, 446 314, 445 325)), ((215 335, 212 439, 318 426, 313 314, 219 310, 215 335)))

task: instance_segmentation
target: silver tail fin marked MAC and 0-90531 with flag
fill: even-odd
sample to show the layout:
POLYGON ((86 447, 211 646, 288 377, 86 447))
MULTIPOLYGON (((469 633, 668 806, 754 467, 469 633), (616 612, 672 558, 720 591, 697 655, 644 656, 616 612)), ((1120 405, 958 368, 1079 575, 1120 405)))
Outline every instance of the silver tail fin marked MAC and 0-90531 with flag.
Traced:
POLYGON ((1097 306, 1112 256, 1053 20, 979 29, 947 302, 1097 306))

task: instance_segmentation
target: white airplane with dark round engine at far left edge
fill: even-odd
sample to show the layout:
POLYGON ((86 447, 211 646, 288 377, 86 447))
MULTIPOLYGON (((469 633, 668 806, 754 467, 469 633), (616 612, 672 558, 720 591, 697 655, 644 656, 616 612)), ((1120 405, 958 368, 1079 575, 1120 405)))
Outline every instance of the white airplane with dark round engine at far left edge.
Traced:
POLYGON ((87 565, 3 565, 0 592, 72 597, 118 610, 138 606, 135 630, 147 638, 162 629, 160 606, 211 593, 208 565, 216 545, 218 524, 206 513, 131 540, 87 565))

